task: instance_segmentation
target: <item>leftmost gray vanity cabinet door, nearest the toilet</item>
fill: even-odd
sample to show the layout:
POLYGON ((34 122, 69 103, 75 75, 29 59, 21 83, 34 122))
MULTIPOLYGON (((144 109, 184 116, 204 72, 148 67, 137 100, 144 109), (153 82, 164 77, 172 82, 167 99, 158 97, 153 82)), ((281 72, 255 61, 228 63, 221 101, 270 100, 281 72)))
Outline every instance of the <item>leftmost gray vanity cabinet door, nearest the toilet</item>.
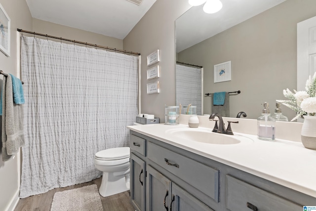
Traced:
POLYGON ((130 198, 136 211, 145 211, 146 165, 145 161, 130 154, 130 198))

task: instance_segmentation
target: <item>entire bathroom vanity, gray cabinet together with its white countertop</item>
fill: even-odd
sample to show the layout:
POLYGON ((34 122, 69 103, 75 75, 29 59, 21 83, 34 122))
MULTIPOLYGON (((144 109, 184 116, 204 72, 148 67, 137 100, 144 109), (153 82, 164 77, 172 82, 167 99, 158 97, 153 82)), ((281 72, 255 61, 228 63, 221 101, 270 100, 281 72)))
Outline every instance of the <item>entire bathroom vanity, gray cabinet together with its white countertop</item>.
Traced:
MULTIPOLYGON (((203 143, 178 135, 195 130, 186 125, 128 128, 130 195, 137 211, 301 211, 316 206, 316 152, 301 143, 266 142, 245 134, 236 134, 240 142, 233 144, 203 143)), ((195 131, 210 138, 210 128, 195 131)))

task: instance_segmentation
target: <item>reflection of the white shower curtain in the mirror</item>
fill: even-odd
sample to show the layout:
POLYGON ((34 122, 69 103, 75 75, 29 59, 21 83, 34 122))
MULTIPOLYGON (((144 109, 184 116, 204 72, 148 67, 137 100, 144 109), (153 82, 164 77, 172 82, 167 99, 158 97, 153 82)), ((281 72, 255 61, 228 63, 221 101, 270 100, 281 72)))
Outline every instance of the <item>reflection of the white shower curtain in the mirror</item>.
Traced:
POLYGON ((197 106, 197 115, 202 115, 201 68, 176 64, 176 105, 197 106))

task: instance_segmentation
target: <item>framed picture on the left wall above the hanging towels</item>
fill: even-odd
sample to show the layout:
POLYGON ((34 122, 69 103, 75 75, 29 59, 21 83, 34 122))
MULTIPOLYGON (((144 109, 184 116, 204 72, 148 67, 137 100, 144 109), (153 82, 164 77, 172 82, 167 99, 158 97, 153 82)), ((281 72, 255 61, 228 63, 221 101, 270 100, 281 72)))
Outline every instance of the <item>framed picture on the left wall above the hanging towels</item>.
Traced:
POLYGON ((0 4, 0 50, 10 56, 10 18, 0 4))

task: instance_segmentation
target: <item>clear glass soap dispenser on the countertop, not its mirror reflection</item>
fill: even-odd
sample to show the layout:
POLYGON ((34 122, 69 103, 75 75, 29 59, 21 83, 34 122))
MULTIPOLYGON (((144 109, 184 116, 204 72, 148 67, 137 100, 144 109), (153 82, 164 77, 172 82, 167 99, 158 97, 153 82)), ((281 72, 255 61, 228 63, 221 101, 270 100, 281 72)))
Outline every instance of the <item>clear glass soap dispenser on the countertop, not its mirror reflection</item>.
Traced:
POLYGON ((269 112, 269 103, 263 104, 261 116, 257 119, 258 122, 258 138, 261 140, 275 140, 276 121, 269 112))

